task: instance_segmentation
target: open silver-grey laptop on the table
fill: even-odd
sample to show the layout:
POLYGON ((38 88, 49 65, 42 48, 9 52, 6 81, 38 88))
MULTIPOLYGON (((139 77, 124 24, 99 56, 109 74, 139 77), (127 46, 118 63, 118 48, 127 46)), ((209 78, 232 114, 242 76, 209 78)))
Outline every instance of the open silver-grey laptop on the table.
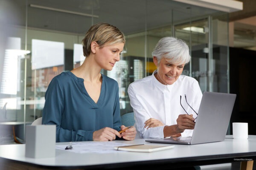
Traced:
POLYGON ((236 94, 205 91, 192 137, 150 139, 145 142, 167 144, 201 144, 225 139, 236 94))

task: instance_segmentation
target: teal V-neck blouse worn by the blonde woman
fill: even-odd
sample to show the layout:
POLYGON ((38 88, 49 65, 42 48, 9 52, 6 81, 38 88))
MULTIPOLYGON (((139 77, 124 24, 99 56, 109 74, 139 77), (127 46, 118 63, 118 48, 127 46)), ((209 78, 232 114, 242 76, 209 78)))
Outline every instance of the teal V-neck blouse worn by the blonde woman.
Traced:
POLYGON ((104 127, 120 130, 118 84, 102 74, 97 103, 84 88, 84 79, 63 72, 50 82, 42 112, 42 124, 56 125, 56 142, 92 141, 104 127))

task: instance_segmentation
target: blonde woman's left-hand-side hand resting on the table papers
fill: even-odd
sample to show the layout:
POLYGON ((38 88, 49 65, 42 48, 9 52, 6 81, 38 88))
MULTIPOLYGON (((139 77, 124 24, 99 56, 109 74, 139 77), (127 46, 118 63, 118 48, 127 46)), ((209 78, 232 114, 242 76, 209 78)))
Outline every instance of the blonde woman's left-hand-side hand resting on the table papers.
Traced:
POLYGON ((93 132, 93 141, 112 141, 116 139, 116 136, 121 138, 121 134, 110 127, 104 127, 100 130, 93 132))

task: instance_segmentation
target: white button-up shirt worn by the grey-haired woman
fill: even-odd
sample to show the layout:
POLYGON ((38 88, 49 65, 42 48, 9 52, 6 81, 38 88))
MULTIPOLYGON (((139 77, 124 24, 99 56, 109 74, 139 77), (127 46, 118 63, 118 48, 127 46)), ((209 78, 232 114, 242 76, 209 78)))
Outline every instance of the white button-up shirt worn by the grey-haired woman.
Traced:
MULTIPOLYGON (((154 73, 131 83, 128 88, 137 132, 141 138, 164 138, 164 126, 176 125, 178 116, 186 114, 183 108, 196 118, 196 113, 189 105, 198 113, 202 99, 202 92, 196 79, 180 75, 172 85, 163 85, 154 77, 154 73), (189 105, 186 103, 185 94, 189 105), (183 108, 180 105, 180 96, 183 108), (164 126, 147 129, 144 127, 145 121, 150 118, 160 120, 164 126)), ((192 133, 193 130, 186 129, 181 136, 192 136, 192 133)))

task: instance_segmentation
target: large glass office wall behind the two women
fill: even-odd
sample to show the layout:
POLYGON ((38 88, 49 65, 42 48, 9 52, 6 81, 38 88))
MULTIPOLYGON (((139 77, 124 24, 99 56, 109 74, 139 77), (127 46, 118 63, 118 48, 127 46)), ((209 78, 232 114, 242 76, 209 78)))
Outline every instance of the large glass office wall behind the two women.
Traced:
POLYGON ((9 11, 3 11, 8 43, 0 54, 0 123, 15 125, 21 141, 24 125, 41 117, 52 78, 82 64, 81 40, 95 23, 110 23, 125 34, 120 61, 112 71, 102 70, 119 84, 121 115, 133 111, 128 85, 156 69, 151 52, 162 37, 174 36, 189 45, 192 61, 183 74, 197 79, 202 91, 229 92, 227 13, 169 0, 1 3, 9 11))

